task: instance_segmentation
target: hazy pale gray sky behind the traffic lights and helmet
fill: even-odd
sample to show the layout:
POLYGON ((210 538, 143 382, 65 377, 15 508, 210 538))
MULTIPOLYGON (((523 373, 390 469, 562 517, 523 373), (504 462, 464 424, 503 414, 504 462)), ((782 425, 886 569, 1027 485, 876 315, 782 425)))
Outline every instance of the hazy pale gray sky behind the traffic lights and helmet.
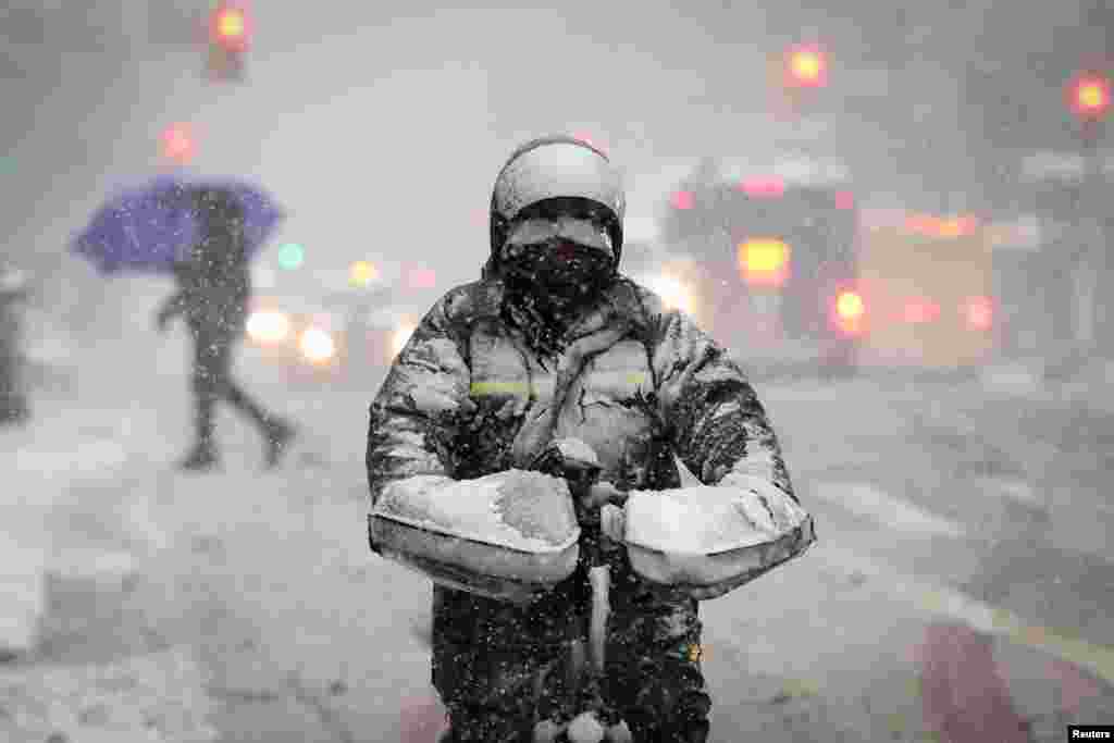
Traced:
POLYGON ((786 146, 766 113, 768 58, 810 38, 831 46, 833 79, 815 117, 827 134, 805 146, 848 159, 864 192, 931 207, 976 167, 956 70, 1051 53, 1079 25, 1063 3, 1020 17, 988 0, 438 4, 256 0, 248 81, 213 86, 189 43, 204 3, 55 3, 43 43, 27 31, 8 47, 31 74, 4 80, 9 234, 62 245, 107 188, 154 173, 159 131, 187 121, 196 168, 263 182, 292 211, 282 237, 311 260, 405 254, 470 278, 487 250, 478 217, 519 140, 597 138, 628 172, 633 215, 649 215, 692 158, 786 146))

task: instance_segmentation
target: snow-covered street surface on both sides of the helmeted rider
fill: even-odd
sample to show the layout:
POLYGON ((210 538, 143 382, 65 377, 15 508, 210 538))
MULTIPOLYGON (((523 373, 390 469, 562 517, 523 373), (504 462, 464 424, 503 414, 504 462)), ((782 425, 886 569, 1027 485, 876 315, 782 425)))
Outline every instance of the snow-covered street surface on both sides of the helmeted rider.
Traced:
MULTIPOLYGON (((0 666, 4 740, 432 740, 429 583, 365 544, 379 380, 290 389, 244 363, 304 427, 274 472, 231 419, 222 473, 174 472, 188 428, 167 370, 141 397, 96 382, 97 409, 42 401, 3 433, 21 489, 3 544, 23 550, 3 565, 30 574, 4 596, 39 638, 0 666)), ((711 740, 944 740, 944 677, 960 717, 998 705, 1033 740, 1111 722, 1110 412, 975 382, 758 390, 820 542, 702 605, 711 740)))

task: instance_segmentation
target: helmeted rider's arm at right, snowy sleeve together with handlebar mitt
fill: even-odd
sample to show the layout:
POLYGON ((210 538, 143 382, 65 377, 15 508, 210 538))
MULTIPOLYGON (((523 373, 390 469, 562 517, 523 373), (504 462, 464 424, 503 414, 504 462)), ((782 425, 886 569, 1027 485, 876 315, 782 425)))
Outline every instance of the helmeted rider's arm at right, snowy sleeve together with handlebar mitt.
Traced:
POLYGON ((665 311, 653 296, 644 306, 657 412, 674 452, 704 486, 672 497, 632 496, 626 538, 651 549, 635 553, 636 573, 706 600, 802 555, 815 528, 739 364, 686 315, 665 311), (671 557, 681 554, 702 557, 671 557))

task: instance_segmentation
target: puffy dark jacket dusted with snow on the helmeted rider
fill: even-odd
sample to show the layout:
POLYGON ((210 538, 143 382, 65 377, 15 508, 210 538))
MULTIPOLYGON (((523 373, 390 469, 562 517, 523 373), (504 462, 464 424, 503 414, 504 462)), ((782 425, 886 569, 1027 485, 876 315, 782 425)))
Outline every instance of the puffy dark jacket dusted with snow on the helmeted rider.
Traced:
MULTIPOLYGON (((543 358, 504 319, 504 291, 488 277, 448 292, 399 354, 370 409, 372 506, 400 480, 526 469, 575 438, 622 489, 680 487, 675 454, 704 485, 773 485, 784 496, 766 506, 773 520, 800 520, 762 404, 692 319, 619 277, 569 327, 565 351, 543 358)), ((803 549, 811 518, 799 528, 803 549)))

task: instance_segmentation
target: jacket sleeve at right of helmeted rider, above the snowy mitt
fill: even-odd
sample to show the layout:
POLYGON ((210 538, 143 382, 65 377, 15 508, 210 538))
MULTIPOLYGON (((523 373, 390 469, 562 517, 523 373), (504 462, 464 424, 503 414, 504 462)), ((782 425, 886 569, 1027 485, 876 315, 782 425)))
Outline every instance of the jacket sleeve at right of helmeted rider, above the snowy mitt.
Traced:
POLYGON ((677 457, 705 485, 756 479, 798 502, 778 437, 743 370, 687 315, 665 311, 652 296, 646 306, 658 412, 677 457))

